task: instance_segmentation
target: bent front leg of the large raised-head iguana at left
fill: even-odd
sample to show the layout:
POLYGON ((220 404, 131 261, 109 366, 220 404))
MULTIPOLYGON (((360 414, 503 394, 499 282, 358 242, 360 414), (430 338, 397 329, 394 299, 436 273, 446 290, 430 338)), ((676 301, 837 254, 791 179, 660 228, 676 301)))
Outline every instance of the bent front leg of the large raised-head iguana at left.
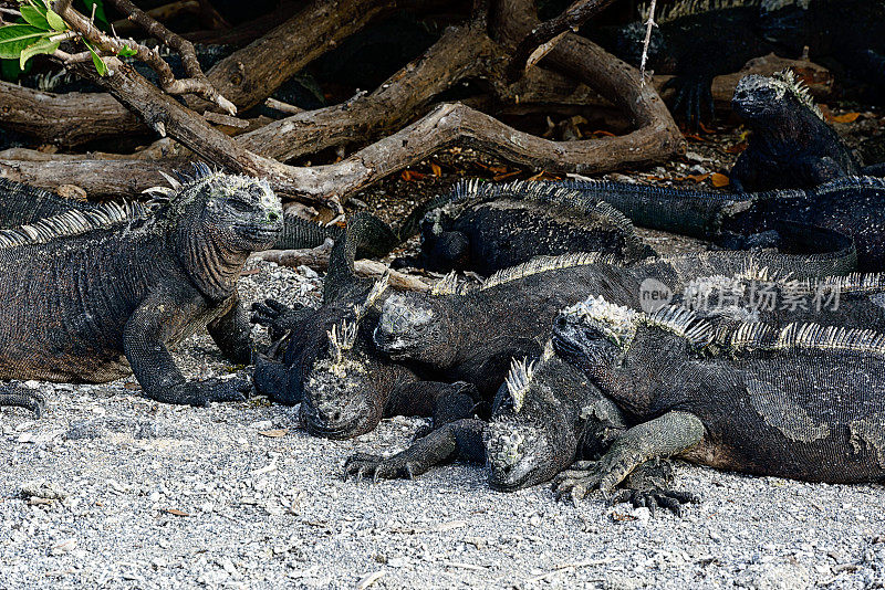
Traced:
POLYGON ((207 405, 211 401, 246 399, 251 383, 246 379, 185 380, 175 366, 166 341, 198 304, 171 294, 156 294, 133 312, 123 329, 123 351, 144 396, 164 403, 207 405))

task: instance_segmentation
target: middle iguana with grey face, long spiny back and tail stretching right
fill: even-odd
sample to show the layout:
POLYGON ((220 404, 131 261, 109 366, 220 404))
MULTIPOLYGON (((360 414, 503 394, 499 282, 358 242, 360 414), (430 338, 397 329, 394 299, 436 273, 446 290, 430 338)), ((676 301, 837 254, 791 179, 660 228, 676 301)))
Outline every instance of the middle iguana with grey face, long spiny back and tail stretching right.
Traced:
POLYGON ((590 293, 638 309, 641 298, 659 291, 678 294, 698 276, 733 275, 753 264, 796 277, 846 274, 854 260, 851 249, 813 256, 704 252, 633 265, 615 265, 612 256, 596 253, 539 256, 496 273, 478 288, 458 286, 452 274, 434 294, 387 297, 374 341, 395 360, 475 383, 490 400, 511 357, 538 356, 555 314, 590 293))

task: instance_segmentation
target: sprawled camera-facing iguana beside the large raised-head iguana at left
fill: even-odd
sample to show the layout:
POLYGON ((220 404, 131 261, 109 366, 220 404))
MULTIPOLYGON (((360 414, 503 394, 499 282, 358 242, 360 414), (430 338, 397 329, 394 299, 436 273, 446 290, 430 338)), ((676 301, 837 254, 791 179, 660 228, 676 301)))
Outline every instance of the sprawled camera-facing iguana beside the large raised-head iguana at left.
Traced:
POLYGON ((377 283, 353 272, 357 249, 386 233, 386 224, 357 213, 335 243, 320 309, 287 310, 274 302, 256 304, 253 320, 289 331, 277 345, 282 359, 256 367, 260 392, 283 403, 301 403, 308 430, 317 436, 348 439, 374 430, 382 418, 433 417, 435 425, 470 415, 478 394, 468 383, 427 381, 413 369, 379 356, 372 345, 377 283))

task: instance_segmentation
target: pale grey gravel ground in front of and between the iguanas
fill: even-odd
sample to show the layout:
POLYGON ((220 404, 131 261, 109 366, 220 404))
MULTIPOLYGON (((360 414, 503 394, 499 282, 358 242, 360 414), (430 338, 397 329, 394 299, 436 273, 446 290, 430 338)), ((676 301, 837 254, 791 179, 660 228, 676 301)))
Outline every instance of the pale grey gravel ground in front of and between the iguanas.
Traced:
MULTIPOLYGON (((252 266, 247 299, 319 302, 312 272, 252 266)), ((177 358, 190 377, 231 369, 205 336, 177 358)), ((348 454, 402 449, 424 422, 333 442, 260 399, 195 409, 139 398, 132 378, 32 384, 45 418, 0 411, 2 589, 885 587, 881 485, 680 465, 677 487, 702 503, 679 519, 496 493, 469 465, 357 484, 341 478, 348 454)))

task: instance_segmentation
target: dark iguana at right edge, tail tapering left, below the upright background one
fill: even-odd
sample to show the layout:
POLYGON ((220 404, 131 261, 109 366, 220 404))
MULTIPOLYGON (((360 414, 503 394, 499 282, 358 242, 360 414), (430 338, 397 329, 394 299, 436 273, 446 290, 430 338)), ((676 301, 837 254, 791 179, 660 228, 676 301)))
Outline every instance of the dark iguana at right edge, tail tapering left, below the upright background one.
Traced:
POLYGON ((858 270, 885 270, 885 179, 847 177, 812 189, 732 194, 606 181, 566 185, 586 199, 612 203, 637 225, 725 245, 781 231, 783 221, 830 229, 854 240, 858 270))

